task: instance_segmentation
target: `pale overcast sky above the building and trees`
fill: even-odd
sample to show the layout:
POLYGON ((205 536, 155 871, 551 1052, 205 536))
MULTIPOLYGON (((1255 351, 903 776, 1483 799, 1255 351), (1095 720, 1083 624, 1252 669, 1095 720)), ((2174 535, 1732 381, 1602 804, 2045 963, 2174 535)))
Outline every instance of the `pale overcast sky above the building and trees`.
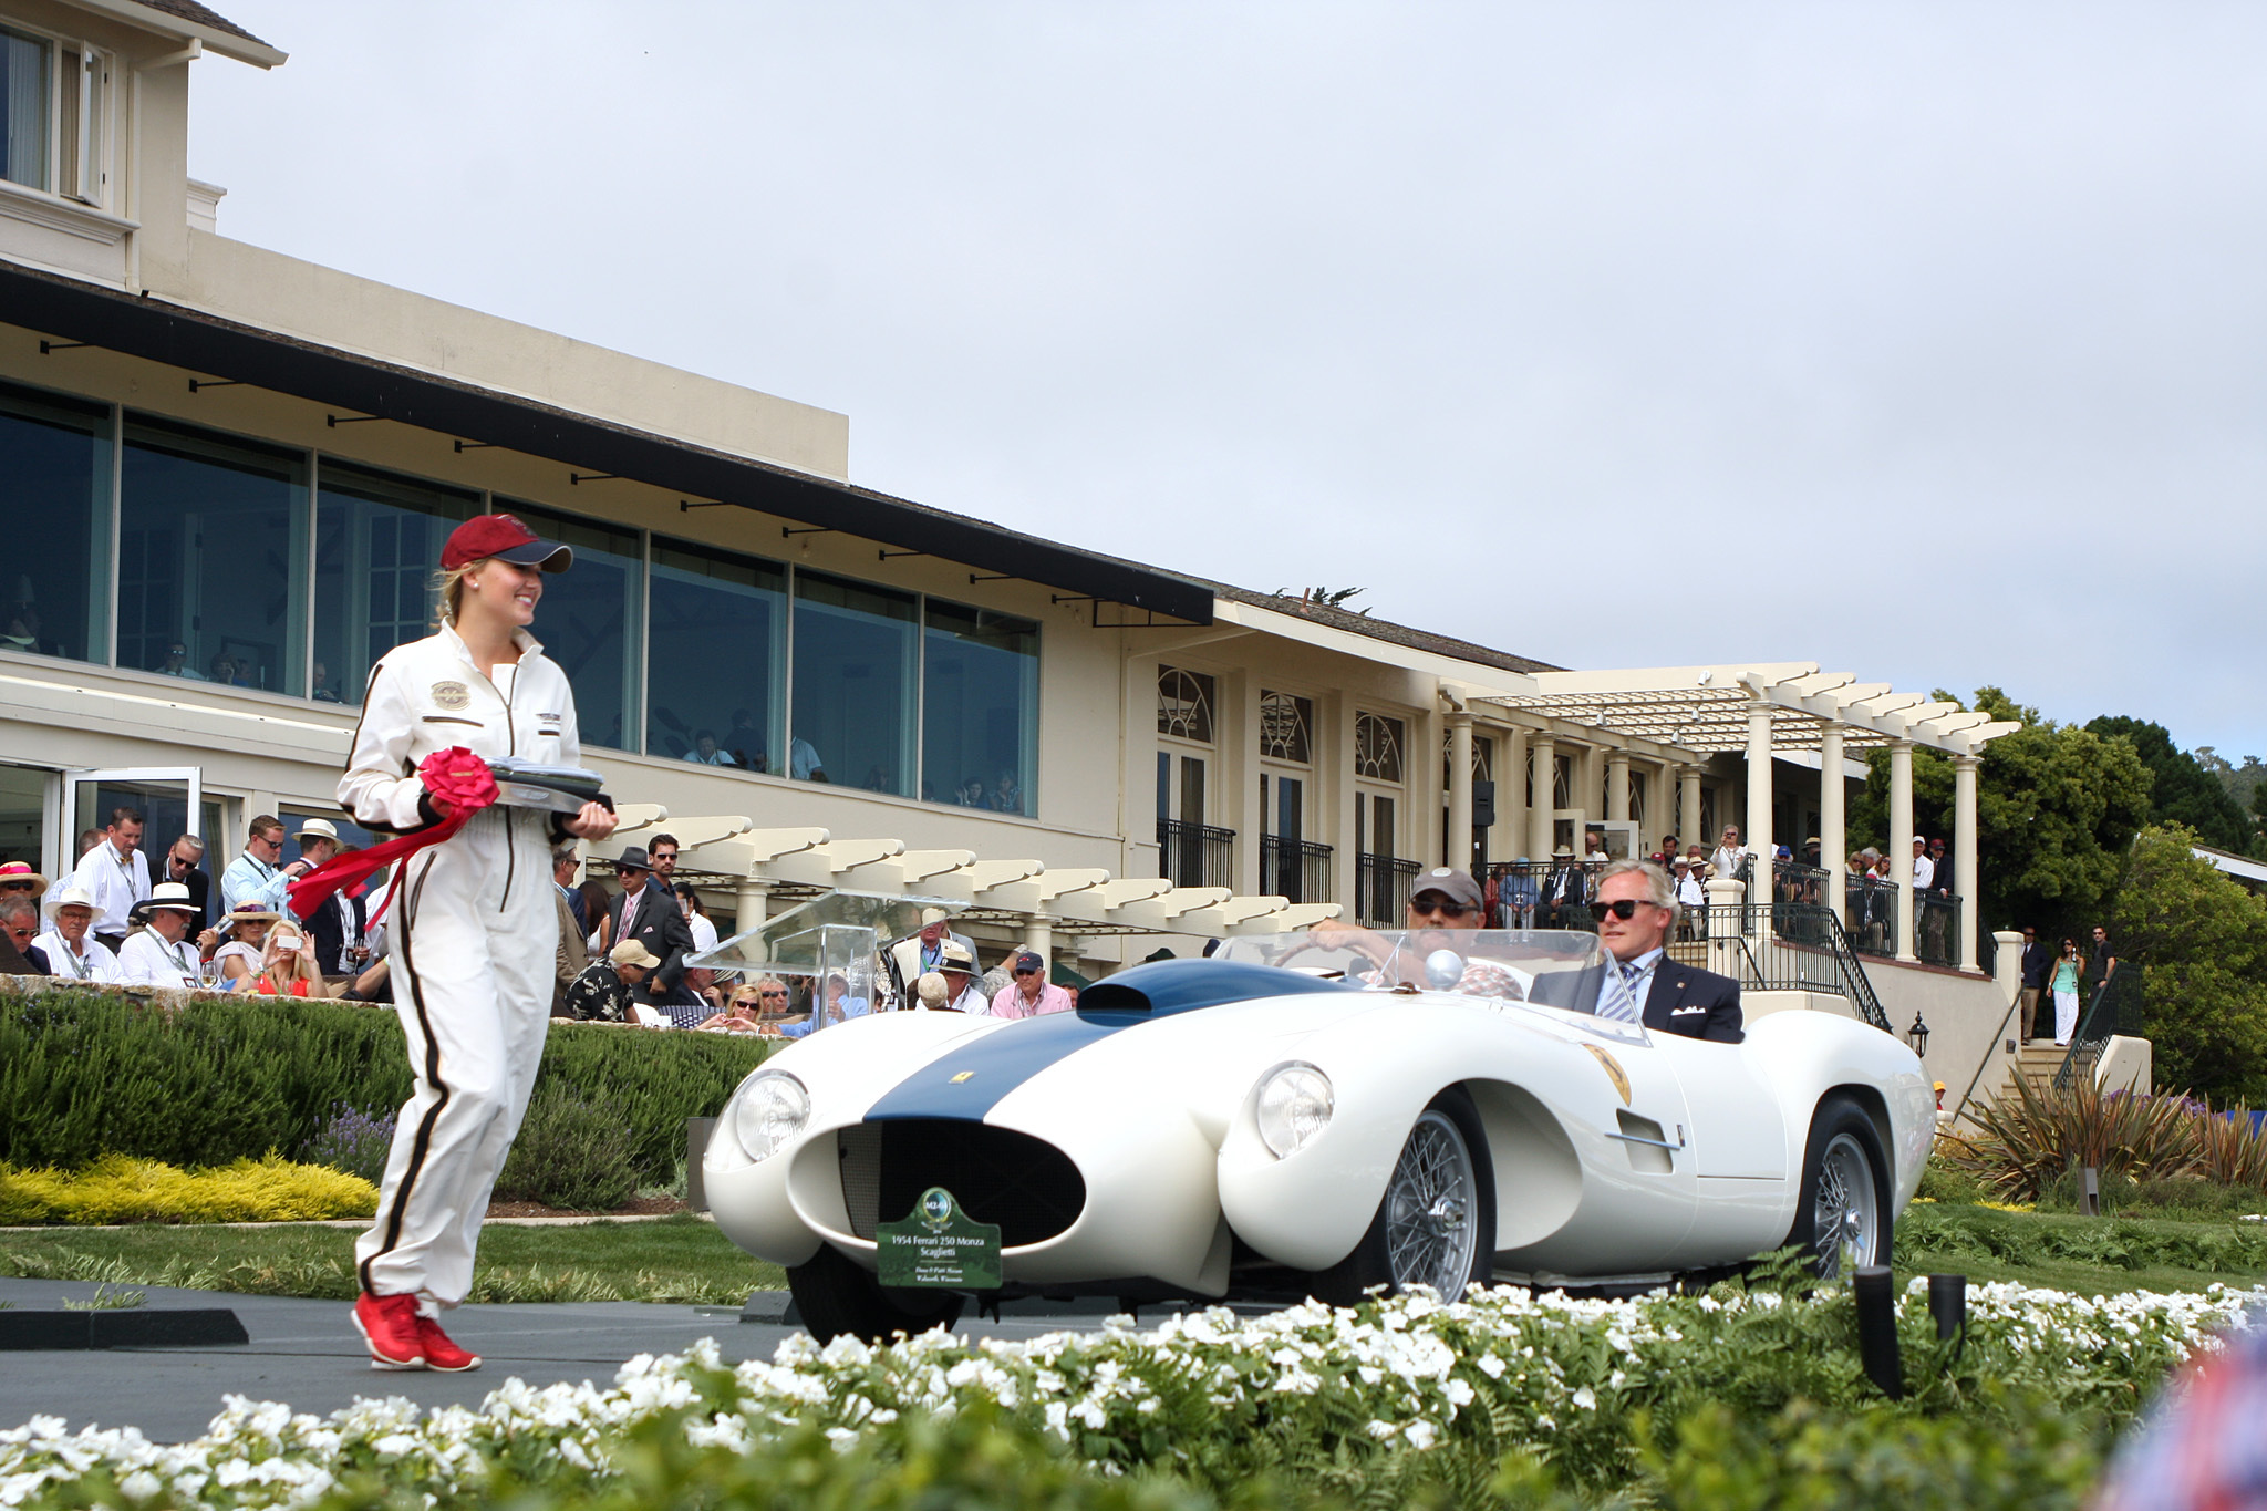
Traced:
POLYGON ((868 487, 2267 754, 2267 7, 215 5, 222 233, 868 487))

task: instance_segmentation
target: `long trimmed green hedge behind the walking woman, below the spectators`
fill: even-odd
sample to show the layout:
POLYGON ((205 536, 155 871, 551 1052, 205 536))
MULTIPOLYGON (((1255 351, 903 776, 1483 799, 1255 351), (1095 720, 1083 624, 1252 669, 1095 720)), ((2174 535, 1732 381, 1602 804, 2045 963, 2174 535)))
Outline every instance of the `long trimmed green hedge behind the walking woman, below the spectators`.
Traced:
MULTIPOLYGON (((685 1119, 723 1108, 766 1053, 716 1033, 553 1024, 537 1094, 605 1108, 639 1180, 669 1183, 685 1119)), ((383 1112, 408 1092, 401 1024, 383 1008, 218 997, 159 1008, 75 988, 0 997, 0 1160, 16 1167, 290 1155, 336 1108, 383 1112)))

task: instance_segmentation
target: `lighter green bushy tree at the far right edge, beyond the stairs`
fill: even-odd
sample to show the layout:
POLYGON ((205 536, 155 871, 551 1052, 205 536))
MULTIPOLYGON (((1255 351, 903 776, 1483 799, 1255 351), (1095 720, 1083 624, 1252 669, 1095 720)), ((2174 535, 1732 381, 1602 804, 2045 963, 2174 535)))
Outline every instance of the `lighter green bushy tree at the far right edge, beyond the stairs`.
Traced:
POLYGON ((2140 831, 2111 947, 2117 970, 2140 967, 2156 1083, 2256 1108, 2267 1101, 2267 899, 2197 859, 2194 843, 2181 825, 2140 831))

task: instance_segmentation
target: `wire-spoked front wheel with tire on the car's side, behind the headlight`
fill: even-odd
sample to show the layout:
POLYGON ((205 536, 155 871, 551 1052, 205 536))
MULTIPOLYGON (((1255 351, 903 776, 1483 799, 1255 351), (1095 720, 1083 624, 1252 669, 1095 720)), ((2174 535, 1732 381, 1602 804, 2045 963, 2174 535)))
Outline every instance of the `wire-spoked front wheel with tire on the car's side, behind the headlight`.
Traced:
POLYGON ((1315 1300, 1351 1307, 1374 1287, 1433 1287, 1460 1300, 1489 1275, 1496 1248, 1496 1178, 1471 1096, 1451 1087, 1417 1115, 1369 1230, 1344 1260, 1313 1278, 1315 1300))

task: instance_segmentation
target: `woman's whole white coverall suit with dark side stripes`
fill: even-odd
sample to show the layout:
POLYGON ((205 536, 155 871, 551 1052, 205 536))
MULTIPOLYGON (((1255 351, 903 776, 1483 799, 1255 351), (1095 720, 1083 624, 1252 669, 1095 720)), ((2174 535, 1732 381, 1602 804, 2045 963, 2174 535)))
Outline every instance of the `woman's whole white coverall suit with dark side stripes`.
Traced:
MULTIPOLYGON (((422 829, 417 766, 462 745, 476 757, 576 766, 567 673, 517 630, 517 666, 483 677, 456 630, 385 652, 363 698, 338 800, 374 829, 422 829)), ((394 1124, 379 1217, 354 1246, 363 1289, 413 1294, 431 1316, 472 1289, 472 1250, 503 1155, 519 1133, 551 1026, 558 906, 553 818, 487 806, 419 850, 392 904, 394 1013, 413 1090, 394 1124)))

